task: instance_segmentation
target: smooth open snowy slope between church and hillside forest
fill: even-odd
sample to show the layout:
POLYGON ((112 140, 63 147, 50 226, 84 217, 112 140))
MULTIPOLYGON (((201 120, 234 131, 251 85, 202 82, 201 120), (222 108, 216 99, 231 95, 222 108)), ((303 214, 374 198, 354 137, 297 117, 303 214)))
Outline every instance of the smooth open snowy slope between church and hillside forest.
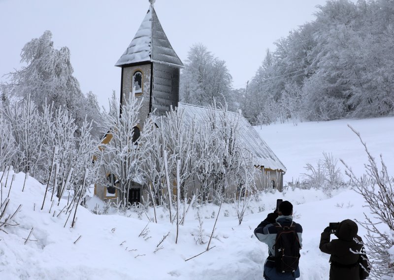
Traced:
MULTIPOLYGON (((285 181, 296 180, 305 173, 306 163, 315 165, 323 152, 332 153, 352 167, 356 175, 364 172, 367 158, 357 135, 376 160, 380 154, 389 170, 394 170, 394 117, 374 119, 344 119, 328 122, 302 122, 256 126, 256 130, 287 168, 285 181)), ((344 166, 338 163, 344 171, 344 166)))

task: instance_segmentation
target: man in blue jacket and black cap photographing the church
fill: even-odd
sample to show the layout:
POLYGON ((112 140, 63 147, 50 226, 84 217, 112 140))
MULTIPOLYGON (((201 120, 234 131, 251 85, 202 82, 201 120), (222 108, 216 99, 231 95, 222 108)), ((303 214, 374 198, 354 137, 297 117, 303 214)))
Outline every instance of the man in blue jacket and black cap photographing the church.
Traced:
POLYGON ((275 242, 276 236, 284 227, 292 227, 296 231, 299 247, 302 246, 302 227, 293 222, 293 205, 283 201, 279 209, 269 213, 255 229, 255 236, 259 241, 268 245, 268 258, 264 263, 263 276, 266 280, 295 280, 299 278, 299 267, 294 272, 278 272, 275 268, 275 242), (279 225, 277 224, 279 223, 279 225))

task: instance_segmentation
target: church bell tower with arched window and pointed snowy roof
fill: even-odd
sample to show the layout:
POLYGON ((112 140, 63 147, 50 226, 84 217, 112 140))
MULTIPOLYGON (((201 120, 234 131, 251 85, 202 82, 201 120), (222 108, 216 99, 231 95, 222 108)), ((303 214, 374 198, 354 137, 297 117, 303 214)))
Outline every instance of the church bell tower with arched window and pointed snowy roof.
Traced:
POLYGON ((164 33, 153 7, 150 7, 137 33, 115 66, 122 68, 121 104, 135 87, 135 96, 144 98, 139 112, 143 121, 156 110, 164 115, 179 102, 179 76, 183 64, 164 33))

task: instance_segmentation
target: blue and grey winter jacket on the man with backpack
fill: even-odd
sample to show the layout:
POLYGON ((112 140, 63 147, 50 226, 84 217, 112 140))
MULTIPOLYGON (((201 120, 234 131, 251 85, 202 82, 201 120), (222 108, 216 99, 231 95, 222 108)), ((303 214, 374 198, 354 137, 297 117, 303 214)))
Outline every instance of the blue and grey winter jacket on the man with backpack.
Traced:
MULTIPOLYGON (((269 215, 268 215, 269 216, 269 215)), ((281 226, 290 226, 293 221, 293 216, 279 216, 275 220, 280 223, 281 226)), ((264 278, 267 280, 294 280, 299 278, 299 267, 293 273, 285 272, 279 273, 276 271, 274 266, 273 256, 275 255, 275 240, 277 234, 277 228, 273 224, 274 221, 270 220, 268 217, 263 220, 255 229, 255 236, 257 239, 266 245, 268 245, 268 258, 264 263, 264 278)), ((299 244, 302 246, 302 227, 300 224, 293 223, 296 226, 296 233, 298 235, 299 244)))

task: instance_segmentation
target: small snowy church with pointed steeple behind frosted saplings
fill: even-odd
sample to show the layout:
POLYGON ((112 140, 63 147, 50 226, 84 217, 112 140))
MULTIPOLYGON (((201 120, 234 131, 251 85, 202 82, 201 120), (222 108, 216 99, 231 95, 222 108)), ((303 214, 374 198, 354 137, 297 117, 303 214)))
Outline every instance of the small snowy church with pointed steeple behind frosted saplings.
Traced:
MULTIPOLYGON (((140 120, 144 120, 153 111, 158 115, 165 115, 171 107, 182 108, 189 123, 206 118, 206 108, 179 102, 180 70, 184 66, 164 33, 154 9, 154 0, 149 2, 150 7, 137 33, 115 64, 122 69, 120 103, 125 102, 134 87, 135 96, 143 98, 139 110, 140 120)), ((256 178, 257 184, 264 184, 263 178, 265 184, 268 182, 272 188, 281 191, 285 166, 244 117, 241 117, 241 123, 240 137, 247 149, 254 154, 255 167, 261 170, 262 176, 256 178)), ((140 124, 134 128, 136 136, 139 136, 141 129, 140 124)), ((103 142, 109 142, 110 139, 111 137, 107 136, 103 142)), ((130 189, 131 204, 140 202, 143 195, 142 182, 137 181, 130 189)), ((114 189, 109 190, 99 184, 95 185, 95 194, 102 200, 117 198, 114 189)))

